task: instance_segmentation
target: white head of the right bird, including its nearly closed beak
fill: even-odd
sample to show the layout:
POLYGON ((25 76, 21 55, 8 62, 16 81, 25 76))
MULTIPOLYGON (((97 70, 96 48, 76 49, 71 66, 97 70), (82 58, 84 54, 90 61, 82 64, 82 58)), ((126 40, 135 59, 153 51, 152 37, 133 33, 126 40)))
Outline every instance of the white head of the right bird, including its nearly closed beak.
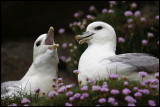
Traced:
POLYGON ((96 21, 87 26, 86 32, 77 35, 79 44, 87 42, 92 44, 111 44, 116 47, 116 33, 112 26, 105 22, 96 21))

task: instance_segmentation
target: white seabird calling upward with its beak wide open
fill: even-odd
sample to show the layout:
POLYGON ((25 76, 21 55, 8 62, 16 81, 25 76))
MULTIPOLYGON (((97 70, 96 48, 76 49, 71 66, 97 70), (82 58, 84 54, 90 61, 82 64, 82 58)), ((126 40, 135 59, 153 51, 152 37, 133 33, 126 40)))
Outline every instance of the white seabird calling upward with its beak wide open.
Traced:
POLYGON ((28 72, 19 81, 8 81, 1 84, 1 97, 19 95, 19 91, 48 93, 52 90, 52 78, 58 78, 57 47, 54 42, 54 28, 50 27, 48 34, 40 35, 34 43, 33 63, 28 72))

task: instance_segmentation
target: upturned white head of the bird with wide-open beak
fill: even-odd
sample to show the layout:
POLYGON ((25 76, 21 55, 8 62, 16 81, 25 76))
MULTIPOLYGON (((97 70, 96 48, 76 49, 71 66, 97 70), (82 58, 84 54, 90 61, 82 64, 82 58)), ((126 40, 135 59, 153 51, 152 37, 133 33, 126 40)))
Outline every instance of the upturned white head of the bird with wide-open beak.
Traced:
MULTIPOLYGON (((50 27, 47 34, 40 35, 34 43, 33 61, 45 63, 47 61, 59 62, 57 47, 59 44, 54 42, 54 28, 50 27)), ((50 63, 50 62, 48 62, 50 63)))

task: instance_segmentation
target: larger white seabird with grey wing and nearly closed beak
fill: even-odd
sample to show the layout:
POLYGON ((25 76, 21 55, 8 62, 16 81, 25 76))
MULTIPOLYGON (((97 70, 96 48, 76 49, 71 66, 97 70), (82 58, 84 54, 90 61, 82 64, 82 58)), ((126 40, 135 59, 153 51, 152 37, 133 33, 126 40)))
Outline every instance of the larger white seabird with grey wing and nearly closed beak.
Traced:
MULTIPOLYGON (((112 26, 104 22, 93 22, 86 32, 77 35, 79 44, 88 43, 78 65, 78 81, 86 84, 86 78, 100 80, 109 78, 109 74, 118 74, 130 80, 141 81, 139 71, 149 73, 145 79, 154 78, 159 72, 159 59, 144 53, 126 53, 116 55, 116 33, 112 26)), ((145 80, 144 79, 144 80, 145 80)))

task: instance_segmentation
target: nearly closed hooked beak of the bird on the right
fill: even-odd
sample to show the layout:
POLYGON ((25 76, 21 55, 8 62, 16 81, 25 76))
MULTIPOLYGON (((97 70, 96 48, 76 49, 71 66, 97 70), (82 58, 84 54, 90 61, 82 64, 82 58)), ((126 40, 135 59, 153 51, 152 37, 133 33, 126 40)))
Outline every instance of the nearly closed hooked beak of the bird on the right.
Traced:
POLYGON ((79 41, 79 44, 83 44, 84 42, 91 40, 93 34, 94 33, 87 31, 83 32, 82 35, 77 35, 75 38, 79 41))

